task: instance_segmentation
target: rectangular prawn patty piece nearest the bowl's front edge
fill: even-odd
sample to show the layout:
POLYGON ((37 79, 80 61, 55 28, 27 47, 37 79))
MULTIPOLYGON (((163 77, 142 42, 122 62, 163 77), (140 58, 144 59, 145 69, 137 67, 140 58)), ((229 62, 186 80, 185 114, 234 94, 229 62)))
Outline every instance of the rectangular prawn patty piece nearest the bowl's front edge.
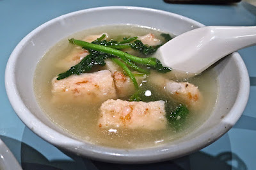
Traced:
POLYGON ((100 128, 164 129, 167 126, 164 101, 107 100, 100 107, 98 124, 100 128))

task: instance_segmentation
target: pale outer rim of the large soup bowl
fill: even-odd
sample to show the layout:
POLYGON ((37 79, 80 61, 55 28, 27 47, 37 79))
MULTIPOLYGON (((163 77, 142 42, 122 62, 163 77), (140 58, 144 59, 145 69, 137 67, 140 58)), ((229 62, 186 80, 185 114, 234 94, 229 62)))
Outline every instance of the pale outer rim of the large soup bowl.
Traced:
POLYGON ((6 65, 4 81, 5 81, 5 88, 8 98, 10 100, 10 104, 12 105, 14 111, 19 116, 20 120, 29 127, 35 134, 39 135, 45 141, 53 144, 54 146, 58 146, 68 151, 72 151, 73 153, 77 153, 78 155, 83 155, 85 157, 93 158, 96 160, 102 160, 106 162, 118 162, 118 163, 146 163, 146 162, 158 162, 161 160, 166 160, 169 158, 177 158, 183 155, 188 155, 189 153, 193 153, 196 150, 200 150, 205 146, 213 143, 217 139, 219 139, 223 134, 225 134, 241 117, 241 114, 246 107, 246 103, 248 101, 249 93, 250 93, 250 79, 248 75, 247 68, 244 64, 243 59, 241 56, 234 52, 231 54, 232 58, 235 59, 236 63, 239 63, 239 72, 241 73, 241 81, 243 83, 239 86, 239 93, 237 94, 236 102, 233 105, 230 112, 232 115, 227 114, 223 121, 228 120, 228 125, 224 125, 223 121, 221 121, 221 125, 211 128, 211 130, 207 131, 207 133, 203 133, 198 135, 198 137, 194 137, 191 139, 191 143, 180 143, 179 146, 167 147, 167 146, 159 146, 156 148, 145 148, 140 150, 127 150, 127 149, 117 149, 117 148, 108 148, 105 146, 95 146, 94 144, 90 143, 83 143, 76 139, 72 139, 66 135, 63 135, 52 128, 48 127, 42 121, 40 121, 36 116, 34 116, 26 107, 26 104, 20 98, 19 90, 16 86, 15 81, 15 65, 17 64, 17 58, 19 56, 20 51, 22 50, 23 45, 31 38, 33 35, 38 33, 44 27, 51 25, 52 23, 60 20, 65 19, 65 17, 71 17, 73 15, 79 15, 79 13, 86 13, 86 12, 97 12, 98 10, 141 10, 141 11, 150 11, 150 12, 157 12, 162 14, 173 15, 173 17, 177 17, 182 20, 186 20, 187 22, 191 22, 196 26, 204 26, 200 22, 195 20, 189 19, 182 15, 178 15, 171 12, 166 12, 163 10, 156 10, 152 8, 142 8, 136 6, 105 6, 105 7, 98 7, 98 8, 89 8, 85 10, 79 10, 77 12, 67 13, 65 15, 61 15, 60 17, 56 17, 55 19, 49 20, 45 22, 39 27, 36 27, 31 33, 26 35, 19 44, 15 47, 10 58, 8 59, 8 63, 6 65), (28 119, 29 117, 29 119, 28 119), (36 125, 40 128, 33 128, 36 125), (42 132, 42 128, 44 131, 47 131, 47 134, 42 132), (220 130, 221 129, 221 130, 220 130), (219 132, 219 133, 216 133, 219 132), (211 134, 211 136, 210 136, 211 134), (54 137, 52 137, 54 136, 54 137), (213 140, 209 141, 209 138, 213 138, 213 140), (56 140, 57 139, 57 140, 56 140), (61 140, 58 140, 61 139, 61 140), (204 139, 204 140, 202 140, 204 139), (195 145, 196 143, 196 145, 195 145), (193 145, 191 145, 193 144, 193 145))

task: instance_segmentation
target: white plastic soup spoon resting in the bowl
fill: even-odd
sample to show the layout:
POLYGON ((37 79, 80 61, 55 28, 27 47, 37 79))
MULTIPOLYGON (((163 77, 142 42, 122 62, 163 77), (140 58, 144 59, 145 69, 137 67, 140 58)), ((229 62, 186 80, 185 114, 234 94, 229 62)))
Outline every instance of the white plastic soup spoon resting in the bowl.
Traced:
POLYGON ((252 45, 256 45, 256 27, 207 26, 176 36, 161 46, 155 57, 174 70, 198 74, 252 45))

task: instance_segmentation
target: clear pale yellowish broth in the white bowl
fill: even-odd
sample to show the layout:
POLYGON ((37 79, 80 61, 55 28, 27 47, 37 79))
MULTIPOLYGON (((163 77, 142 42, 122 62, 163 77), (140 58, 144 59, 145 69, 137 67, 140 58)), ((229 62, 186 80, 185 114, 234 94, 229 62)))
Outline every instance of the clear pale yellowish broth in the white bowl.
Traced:
MULTIPOLYGON (((74 35, 68 36, 61 42, 52 47, 38 63, 35 71, 34 88, 36 99, 42 110, 49 116, 49 119, 56 123, 58 127, 65 130, 65 133, 86 141, 89 143, 99 144, 102 146, 110 146, 113 148, 148 148, 158 144, 168 143, 179 139, 180 137, 189 134, 196 128, 200 127, 207 118, 209 118, 214 104, 217 100, 218 82, 216 82, 216 74, 210 68, 200 75, 190 78, 179 78, 169 76, 170 81, 184 81, 198 86, 204 103, 199 109, 189 109, 188 118, 178 130, 173 127, 166 127, 159 130, 147 130, 141 128, 100 128, 99 114, 100 105, 102 104, 76 104, 68 102, 52 102, 52 79, 59 73, 65 72, 68 69, 58 66, 61 60, 66 58, 72 50, 77 46, 68 43, 69 38, 82 40, 88 35, 100 35, 108 33, 110 38, 118 40, 123 37, 143 36, 148 33, 153 33, 156 38, 163 40, 161 31, 141 26, 118 25, 118 26, 103 26, 99 28, 88 29, 74 35)), ((134 54, 139 55, 134 52, 134 54)), ((100 69, 100 66, 93 71, 100 69)), ((152 74, 158 76, 161 73, 152 74)), ((162 76, 162 75, 159 75, 162 76)), ((165 101, 166 114, 170 110, 175 110, 180 102, 166 96, 166 93, 159 86, 152 84, 150 80, 154 77, 143 80, 140 88, 145 91, 145 102, 163 100, 165 101)), ((122 97, 122 100, 128 100, 127 97, 122 97)))

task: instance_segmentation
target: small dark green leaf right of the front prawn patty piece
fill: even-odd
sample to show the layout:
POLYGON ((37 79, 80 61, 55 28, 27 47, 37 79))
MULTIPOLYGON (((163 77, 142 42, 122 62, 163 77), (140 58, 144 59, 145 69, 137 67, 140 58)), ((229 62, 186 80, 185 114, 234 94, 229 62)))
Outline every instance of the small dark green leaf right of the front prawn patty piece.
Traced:
POLYGON ((188 108, 185 105, 180 104, 175 111, 166 114, 166 116, 170 125, 176 130, 179 130, 180 127, 185 123, 188 114, 188 108))

